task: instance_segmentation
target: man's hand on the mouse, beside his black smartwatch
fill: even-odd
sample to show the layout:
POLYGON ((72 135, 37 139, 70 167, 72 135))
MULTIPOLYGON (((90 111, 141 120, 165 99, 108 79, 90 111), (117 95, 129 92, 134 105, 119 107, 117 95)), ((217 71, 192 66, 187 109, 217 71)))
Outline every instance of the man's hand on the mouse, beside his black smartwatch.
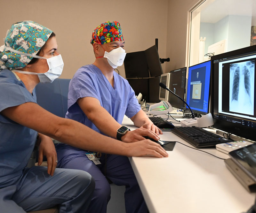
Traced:
POLYGON ((128 131, 124 136, 121 137, 121 141, 126 143, 143 141, 145 140, 143 136, 148 136, 156 141, 160 139, 159 136, 153 131, 140 127, 133 131, 128 131))

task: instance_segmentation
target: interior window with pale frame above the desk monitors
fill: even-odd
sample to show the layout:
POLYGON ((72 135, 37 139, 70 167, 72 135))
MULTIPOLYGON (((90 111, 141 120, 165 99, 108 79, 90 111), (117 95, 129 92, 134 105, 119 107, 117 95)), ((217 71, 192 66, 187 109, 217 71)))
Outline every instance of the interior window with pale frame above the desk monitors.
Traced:
POLYGON ((188 66, 256 44, 255 0, 202 0, 189 12, 188 66))

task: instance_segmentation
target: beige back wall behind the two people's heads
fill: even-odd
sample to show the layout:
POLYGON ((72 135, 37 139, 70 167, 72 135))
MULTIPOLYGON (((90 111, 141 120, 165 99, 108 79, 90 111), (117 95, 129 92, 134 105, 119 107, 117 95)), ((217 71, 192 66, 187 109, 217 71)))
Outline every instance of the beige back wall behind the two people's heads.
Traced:
MULTIPOLYGON (((0 8, 0 45, 18 21, 33 20, 55 32, 65 64, 61 78, 72 78, 79 67, 93 63, 92 31, 108 20, 120 22, 126 52, 145 50, 158 38, 159 57, 166 57, 168 0, 0 0, 0 8)), ((118 69, 124 77, 124 66, 118 69)))

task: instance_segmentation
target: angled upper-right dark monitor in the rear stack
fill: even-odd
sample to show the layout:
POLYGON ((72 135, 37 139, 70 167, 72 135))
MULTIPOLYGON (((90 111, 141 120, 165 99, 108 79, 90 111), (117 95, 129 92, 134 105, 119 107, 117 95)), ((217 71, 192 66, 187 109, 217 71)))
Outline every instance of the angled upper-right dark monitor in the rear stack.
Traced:
POLYGON ((163 74, 156 45, 145 50, 145 55, 148 62, 150 77, 156 77, 163 74))

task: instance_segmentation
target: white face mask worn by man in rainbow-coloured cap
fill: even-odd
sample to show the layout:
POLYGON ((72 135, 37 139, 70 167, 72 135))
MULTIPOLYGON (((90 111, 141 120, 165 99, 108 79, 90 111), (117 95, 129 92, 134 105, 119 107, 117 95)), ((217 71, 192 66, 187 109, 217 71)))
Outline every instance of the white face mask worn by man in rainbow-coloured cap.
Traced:
POLYGON ((122 47, 112 49, 110 52, 105 51, 104 58, 108 59, 108 64, 116 69, 124 63, 126 52, 122 47))

